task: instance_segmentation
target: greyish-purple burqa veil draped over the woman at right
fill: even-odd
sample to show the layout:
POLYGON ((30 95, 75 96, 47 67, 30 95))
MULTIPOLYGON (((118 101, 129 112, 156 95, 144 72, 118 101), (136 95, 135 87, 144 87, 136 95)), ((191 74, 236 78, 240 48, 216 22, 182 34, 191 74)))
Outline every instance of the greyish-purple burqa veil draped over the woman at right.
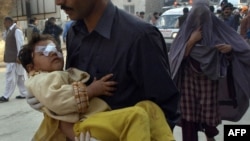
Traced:
POLYGON ((219 97, 221 100, 233 100, 234 104, 220 106, 223 120, 238 121, 249 107, 250 96, 250 46, 229 25, 217 18, 209 9, 207 0, 196 0, 169 52, 172 78, 180 77, 180 66, 184 58, 186 42, 198 27, 202 30, 202 39, 192 48, 190 57, 199 60, 202 71, 213 80, 220 80, 219 97), (229 44, 232 46, 232 78, 234 97, 228 94, 228 61, 215 46, 229 44))

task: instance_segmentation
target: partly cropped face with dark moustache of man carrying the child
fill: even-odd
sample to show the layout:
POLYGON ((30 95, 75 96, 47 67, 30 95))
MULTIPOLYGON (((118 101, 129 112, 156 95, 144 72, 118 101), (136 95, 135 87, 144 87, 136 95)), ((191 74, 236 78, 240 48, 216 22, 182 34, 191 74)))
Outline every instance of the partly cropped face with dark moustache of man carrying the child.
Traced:
POLYGON ((92 14, 96 1, 99 0, 55 0, 55 3, 71 20, 80 20, 92 14))

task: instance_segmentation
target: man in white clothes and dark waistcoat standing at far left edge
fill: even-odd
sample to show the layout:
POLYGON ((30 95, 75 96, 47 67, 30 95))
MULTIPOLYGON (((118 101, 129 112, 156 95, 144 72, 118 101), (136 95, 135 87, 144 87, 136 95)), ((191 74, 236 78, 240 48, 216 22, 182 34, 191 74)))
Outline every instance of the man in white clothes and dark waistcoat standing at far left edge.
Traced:
POLYGON ((11 17, 4 18, 4 26, 6 29, 4 62, 6 63, 5 73, 5 90, 3 96, 0 97, 0 103, 8 102, 14 93, 16 85, 19 94, 16 99, 25 99, 27 95, 24 86, 25 71, 20 64, 17 55, 24 43, 24 35, 11 17))

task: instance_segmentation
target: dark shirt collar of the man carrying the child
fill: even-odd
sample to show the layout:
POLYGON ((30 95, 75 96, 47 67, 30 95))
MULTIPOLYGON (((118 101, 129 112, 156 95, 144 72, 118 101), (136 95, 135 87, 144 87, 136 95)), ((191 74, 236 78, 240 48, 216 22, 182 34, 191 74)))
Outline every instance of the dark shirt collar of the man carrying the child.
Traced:
MULTIPOLYGON (((116 7, 113 5, 113 3, 109 1, 103 15, 101 16, 98 24, 94 29, 94 31, 107 39, 110 39, 112 24, 115 16, 115 9, 116 7)), ((82 20, 77 21, 73 28, 76 32, 87 32, 86 26, 82 20)))

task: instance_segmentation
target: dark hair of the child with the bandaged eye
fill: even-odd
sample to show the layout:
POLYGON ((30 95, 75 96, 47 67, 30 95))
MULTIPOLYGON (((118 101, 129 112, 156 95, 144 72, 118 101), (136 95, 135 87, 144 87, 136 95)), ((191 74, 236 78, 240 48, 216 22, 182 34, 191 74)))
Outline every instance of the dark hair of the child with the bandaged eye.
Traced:
POLYGON ((46 40, 53 41, 53 43, 57 46, 57 50, 61 51, 60 48, 58 48, 58 44, 53 36, 49 34, 34 34, 31 40, 27 44, 23 45, 22 49, 19 51, 18 54, 18 59, 27 72, 29 72, 27 65, 33 64, 33 52, 35 50, 36 44, 40 41, 46 40))

